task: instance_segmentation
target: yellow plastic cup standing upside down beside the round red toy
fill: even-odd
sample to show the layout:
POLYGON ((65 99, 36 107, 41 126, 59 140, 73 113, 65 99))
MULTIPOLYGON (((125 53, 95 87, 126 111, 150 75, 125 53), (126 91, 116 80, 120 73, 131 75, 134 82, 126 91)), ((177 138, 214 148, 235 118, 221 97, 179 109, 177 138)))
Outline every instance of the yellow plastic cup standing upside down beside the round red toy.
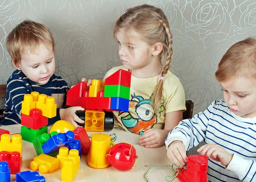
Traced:
POLYGON ((106 134, 92 134, 92 145, 88 152, 87 162, 92 168, 102 169, 109 165, 106 155, 110 149, 111 137, 106 134))

